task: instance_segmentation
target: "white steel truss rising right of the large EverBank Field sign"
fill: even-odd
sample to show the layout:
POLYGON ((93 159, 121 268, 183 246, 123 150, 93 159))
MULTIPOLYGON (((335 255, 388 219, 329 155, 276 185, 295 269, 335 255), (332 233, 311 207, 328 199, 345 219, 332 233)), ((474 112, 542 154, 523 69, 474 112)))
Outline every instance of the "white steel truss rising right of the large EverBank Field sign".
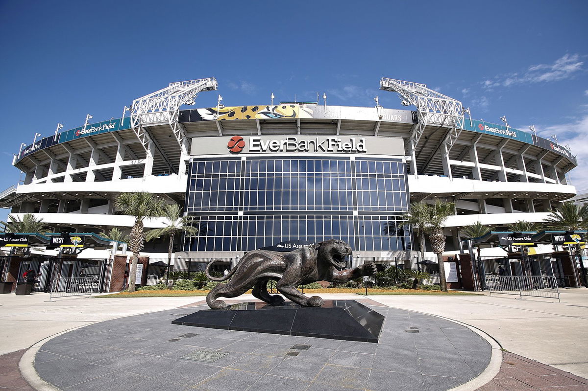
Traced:
POLYGON ((416 106, 417 123, 413 125, 409 138, 406 140, 407 152, 413 155, 425 127, 432 124, 448 127, 450 130, 445 134, 440 145, 437 146, 435 153, 427 161, 426 166, 430 164, 430 161, 441 149, 441 145, 444 146, 442 149, 443 159, 447 159, 449 151, 463 129, 462 102, 429 89, 425 84, 388 79, 387 77, 382 77, 382 80, 380 80, 380 90, 396 92, 402 99, 402 105, 404 106, 416 106))

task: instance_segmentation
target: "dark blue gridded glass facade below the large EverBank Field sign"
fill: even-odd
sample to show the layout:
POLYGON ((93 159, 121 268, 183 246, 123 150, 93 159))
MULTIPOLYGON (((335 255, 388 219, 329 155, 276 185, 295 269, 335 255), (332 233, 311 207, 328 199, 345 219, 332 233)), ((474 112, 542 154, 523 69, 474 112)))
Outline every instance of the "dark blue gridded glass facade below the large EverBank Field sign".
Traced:
POLYGON ((184 251, 250 251, 340 238, 359 251, 410 250, 405 163, 369 157, 194 159, 184 251))

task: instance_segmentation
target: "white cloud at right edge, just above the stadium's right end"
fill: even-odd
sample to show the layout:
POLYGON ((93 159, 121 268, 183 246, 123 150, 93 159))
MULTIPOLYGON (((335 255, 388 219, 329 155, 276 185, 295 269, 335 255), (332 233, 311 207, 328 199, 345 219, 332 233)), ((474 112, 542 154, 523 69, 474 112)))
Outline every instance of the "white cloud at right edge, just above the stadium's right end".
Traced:
POLYGON ((567 144, 571 146, 572 154, 578 160, 578 166, 570 171, 569 177, 572 178, 572 184, 576 186, 576 190, 587 190, 588 143, 586 143, 586 137, 588 136, 588 114, 584 114, 576 122, 546 127, 535 126, 535 129, 542 137, 551 137, 552 134, 555 134, 560 146, 567 144))

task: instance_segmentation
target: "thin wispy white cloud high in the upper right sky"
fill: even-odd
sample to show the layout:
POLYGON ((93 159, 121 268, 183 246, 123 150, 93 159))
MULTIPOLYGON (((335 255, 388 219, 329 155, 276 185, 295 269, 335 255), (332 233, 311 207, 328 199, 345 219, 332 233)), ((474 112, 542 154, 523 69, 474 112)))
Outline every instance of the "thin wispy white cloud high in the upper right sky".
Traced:
POLYGON ((498 86, 509 87, 517 84, 557 82, 573 77, 582 70, 582 65, 584 62, 580 60, 580 55, 577 53, 565 54, 553 64, 532 65, 520 73, 497 75, 493 79, 486 79, 482 82, 482 86, 486 89, 492 89, 498 86))

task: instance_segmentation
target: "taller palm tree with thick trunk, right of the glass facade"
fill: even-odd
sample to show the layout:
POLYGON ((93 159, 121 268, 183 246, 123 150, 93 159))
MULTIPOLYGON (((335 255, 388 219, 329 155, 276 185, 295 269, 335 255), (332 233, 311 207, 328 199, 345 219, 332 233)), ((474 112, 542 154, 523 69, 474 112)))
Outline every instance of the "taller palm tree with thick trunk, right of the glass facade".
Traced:
POLYGON ((437 254, 439 264, 439 282, 441 290, 447 292, 447 281, 445 279, 445 267, 443 267, 443 251, 445 251, 445 234, 443 234, 443 223, 447 217, 455 214, 455 204, 436 200, 435 204, 428 205, 428 218, 426 231, 429 233, 429 240, 433 252, 437 254))

